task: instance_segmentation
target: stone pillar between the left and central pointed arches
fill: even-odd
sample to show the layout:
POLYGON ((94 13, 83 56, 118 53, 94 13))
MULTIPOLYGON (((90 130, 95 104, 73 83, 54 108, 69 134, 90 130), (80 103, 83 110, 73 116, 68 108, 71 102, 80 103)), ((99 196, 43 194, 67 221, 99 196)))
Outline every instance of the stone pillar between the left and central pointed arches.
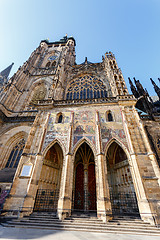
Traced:
POLYGON ((60 197, 58 200, 58 217, 65 219, 71 215, 72 209, 72 187, 73 187, 73 161, 72 161, 72 138, 73 138, 73 122, 74 113, 71 113, 69 137, 68 137, 68 153, 64 158, 62 169, 62 180, 60 187, 60 197))

